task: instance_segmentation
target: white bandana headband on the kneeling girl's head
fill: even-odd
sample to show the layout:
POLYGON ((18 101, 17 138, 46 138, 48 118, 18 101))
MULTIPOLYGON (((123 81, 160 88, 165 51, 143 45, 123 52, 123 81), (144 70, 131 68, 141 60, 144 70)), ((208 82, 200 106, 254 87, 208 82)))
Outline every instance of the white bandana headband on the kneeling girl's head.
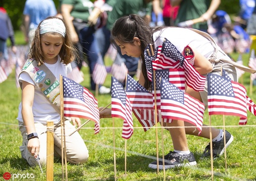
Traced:
POLYGON ((40 25, 40 35, 47 32, 57 32, 60 33, 63 37, 65 37, 66 27, 64 23, 59 19, 43 20, 43 22, 40 25))

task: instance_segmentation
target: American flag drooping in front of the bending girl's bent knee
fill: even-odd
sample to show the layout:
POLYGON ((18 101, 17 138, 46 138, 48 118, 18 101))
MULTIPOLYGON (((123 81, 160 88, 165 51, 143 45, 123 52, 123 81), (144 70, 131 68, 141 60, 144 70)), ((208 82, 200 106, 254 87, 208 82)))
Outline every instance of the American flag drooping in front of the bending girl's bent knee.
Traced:
POLYGON ((161 114, 163 118, 182 120, 202 130, 204 105, 183 93, 168 80, 161 79, 161 114))

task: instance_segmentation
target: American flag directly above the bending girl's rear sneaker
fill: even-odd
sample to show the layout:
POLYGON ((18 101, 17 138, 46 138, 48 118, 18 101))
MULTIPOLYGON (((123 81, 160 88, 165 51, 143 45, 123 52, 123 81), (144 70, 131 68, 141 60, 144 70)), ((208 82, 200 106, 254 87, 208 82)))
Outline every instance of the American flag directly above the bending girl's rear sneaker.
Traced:
POLYGON ((225 70, 222 70, 222 75, 209 73, 207 79, 209 115, 230 115, 246 119, 245 87, 232 81, 225 70))

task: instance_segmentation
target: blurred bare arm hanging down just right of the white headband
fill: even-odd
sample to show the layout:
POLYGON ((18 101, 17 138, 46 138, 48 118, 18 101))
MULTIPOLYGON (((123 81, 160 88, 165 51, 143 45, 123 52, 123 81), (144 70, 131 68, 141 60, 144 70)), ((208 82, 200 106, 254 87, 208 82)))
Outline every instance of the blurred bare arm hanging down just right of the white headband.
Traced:
POLYGON ((71 34, 71 39, 74 43, 77 43, 79 39, 78 39, 78 35, 76 33, 75 27, 72 22, 73 17, 71 17, 71 15, 70 15, 72 9, 73 9, 72 5, 63 4, 61 6, 62 16, 69 28, 69 31, 71 34))

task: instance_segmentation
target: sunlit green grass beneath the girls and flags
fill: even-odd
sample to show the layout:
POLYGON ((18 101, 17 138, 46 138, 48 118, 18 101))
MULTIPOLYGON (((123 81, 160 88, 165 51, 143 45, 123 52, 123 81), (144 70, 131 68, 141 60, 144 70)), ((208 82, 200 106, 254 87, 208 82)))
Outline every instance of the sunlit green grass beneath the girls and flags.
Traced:
MULTIPOLYGON (((234 59, 237 54, 232 55, 234 59)), ((243 56, 244 65, 248 64, 248 54, 243 56)), ((88 69, 83 67, 84 81, 81 83, 89 87, 88 69)), ((249 74, 242 77, 243 83, 249 92, 249 74)), ((111 75, 108 75, 106 86, 111 84, 111 75)), ((250 98, 256 101, 255 87, 250 98)), ((99 106, 106 106, 111 102, 110 95, 98 95, 99 106)), ((30 167, 26 160, 21 158, 19 146, 22 137, 16 120, 18 106, 21 101, 21 91, 15 84, 14 72, 8 79, 0 84, 0 180, 4 180, 3 174, 33 174, 33 179, 14 180, 46 180, 46 167, 43 173, 39 167, 30 167)), ((148 168, 148 163, 156 156, 156 129, 151 128, 144 132, 139 122, 134 118, 134 133, 127 140, 127 161, 125 175, 125 140, 121 137, 123 121, 115 120, 115 146, 116 146, 116 175, 118 180, 164 180, 164 172, 148 168)), ((86 121, 82 119, 82 121, 86 121)), ((222 116, 212 116, 212 125, 222 128, 222 116)), ((233 143, 227 149, 227 172, 225 173, 224 156, 214 161, 215 180, 254 180, 256 179, 256 119, 248 113, 248 123, 245 126, 238 125, 239 118, 225 116, 226 129, 234 136, 233 143)), ((209 123, 208 112, 204 114, 204 123, 209 123)), ((160 125, 158 125, 160 127, 160 125)), ((94 123, 89 122, 79 131, 88 150, 88 162, 82 165, 68 163, 68 180, 115 180, 114 149, 113 149, 113 120, 101 119, 100 132, 94 135, 94 123)), ((158 128, 159 155, 162 155, 161 128, 158 128)), ((194 167, 181 167, 168 169, 165 172, 166 180, 211 180, 211 160, 200 160, 204 147, 209 143, 208 139, 196 136, 187 136, 190 151, 195 153, 197 165, 194 167)), ((168 131, 163 132, 164 152, 167 154, 173 150, 172 141, 168 131)), ((75 140, 74 140, 75 141, 75 140)), ((11 178, 12 179, 12 178, 11 178)), ((10 179, 10 180, 11 180, 10 179)), ((62 163, 60 159, 54 161, 54 180, 62 180, 62 163)))

